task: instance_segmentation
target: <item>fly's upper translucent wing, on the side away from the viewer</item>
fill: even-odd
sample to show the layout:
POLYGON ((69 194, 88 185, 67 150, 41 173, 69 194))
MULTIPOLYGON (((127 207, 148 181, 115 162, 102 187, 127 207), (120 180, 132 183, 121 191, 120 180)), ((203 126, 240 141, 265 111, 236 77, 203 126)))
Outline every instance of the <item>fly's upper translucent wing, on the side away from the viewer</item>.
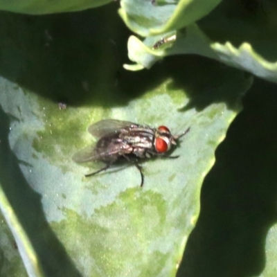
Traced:
POLYGON ((89 129, 87 130, 92 136, 101 138, 102 136, 106 136, 107 134, 119 132, 121 129, 124 129, 126 127, 139 127, 139 125, 129 121, 105 119, 100 120, 93 125, 90 125, 89 129))

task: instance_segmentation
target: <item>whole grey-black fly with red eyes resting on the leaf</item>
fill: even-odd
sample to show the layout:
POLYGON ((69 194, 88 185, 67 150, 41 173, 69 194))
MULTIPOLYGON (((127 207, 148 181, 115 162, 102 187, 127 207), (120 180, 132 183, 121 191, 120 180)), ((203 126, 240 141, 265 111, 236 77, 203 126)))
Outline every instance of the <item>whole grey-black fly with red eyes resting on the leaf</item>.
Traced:
POLYGON ((172 145, 184 136, 190 128, 179 135, 173 136, 166 126, 157 129, 147 125, 139 125, 129 121, 106 119, 91 125, 88 132, 98 138, 95 145, 84 148, 73 156, 76 163, 89 161, 100 161, 105 163, 103 168, 96 172, 85 175, 89 177, 107 170, 118 161, 133 163, 141 174, 141 186, 143 186, 144 175, 139 165, 140 159, 152 157, 177 158, 169 156, 172 145))

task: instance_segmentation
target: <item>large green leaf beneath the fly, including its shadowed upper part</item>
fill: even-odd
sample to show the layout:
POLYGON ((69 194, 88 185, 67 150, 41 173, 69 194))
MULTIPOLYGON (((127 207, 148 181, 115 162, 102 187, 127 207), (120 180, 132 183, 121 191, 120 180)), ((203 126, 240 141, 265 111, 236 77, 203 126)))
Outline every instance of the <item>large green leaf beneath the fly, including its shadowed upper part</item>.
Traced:
POLYGON ((1 211, 30 276, 174 276, 252 79, 199 57, 123 71, 126 30, 113 9, 100 11, 1 14, 1 211), (102 118, 190 132, 178 159, 143 163, 140 188, 132 166, 85 178, 89 168, 73 163, 102 118))

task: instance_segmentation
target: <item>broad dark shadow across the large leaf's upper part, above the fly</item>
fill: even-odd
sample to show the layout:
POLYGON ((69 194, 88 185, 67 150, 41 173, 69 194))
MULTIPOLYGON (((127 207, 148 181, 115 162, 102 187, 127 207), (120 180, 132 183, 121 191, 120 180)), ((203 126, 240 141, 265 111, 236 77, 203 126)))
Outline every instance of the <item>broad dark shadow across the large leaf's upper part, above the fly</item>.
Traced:
MULTIPOLYGON (((219 87, 235 69, 199 56, 168 57, 150 70, 127 71, 131 33, 117 13, 118 3, 57 15, 0 12, 0 75, 53 102, 69 106, 127 105, 171 78, 169 89, 184 89, 190 105, 236 102, 219 87), (217 76, 217 78, 215 78, 217 76), (218 91, 218 92, 217 92, 218 91)), ((232 83, 230 84, 232 87, 232 83)))

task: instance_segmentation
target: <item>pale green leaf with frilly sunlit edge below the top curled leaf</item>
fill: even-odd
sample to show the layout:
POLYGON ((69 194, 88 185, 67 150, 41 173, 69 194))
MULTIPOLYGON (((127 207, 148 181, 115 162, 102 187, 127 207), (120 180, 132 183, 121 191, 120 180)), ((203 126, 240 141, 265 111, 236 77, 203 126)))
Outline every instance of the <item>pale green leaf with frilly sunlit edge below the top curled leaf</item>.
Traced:
MULTIPOLYGON (((172 33, 167 33, 163 37, 170 35, 172 33)), ((265 80, 277 82, 276 62, 269 62, 262 58, 248 43, 242 44, 239 48, 229 42, 213 43, 196 25, 186 28, 185 33, 177 33, 177 38, 173 42, 166 42, 163 48, 159 46, 155 49, 157 42, 159 42, 157 36, 147 37, 144 42, 134 36, 129 37, 129 59, 138 64, 136 70, 150 69, 167 55, 198 54, 248 71, 265 80)), ((125 68, 127 69, 127 65, 125 68)))

